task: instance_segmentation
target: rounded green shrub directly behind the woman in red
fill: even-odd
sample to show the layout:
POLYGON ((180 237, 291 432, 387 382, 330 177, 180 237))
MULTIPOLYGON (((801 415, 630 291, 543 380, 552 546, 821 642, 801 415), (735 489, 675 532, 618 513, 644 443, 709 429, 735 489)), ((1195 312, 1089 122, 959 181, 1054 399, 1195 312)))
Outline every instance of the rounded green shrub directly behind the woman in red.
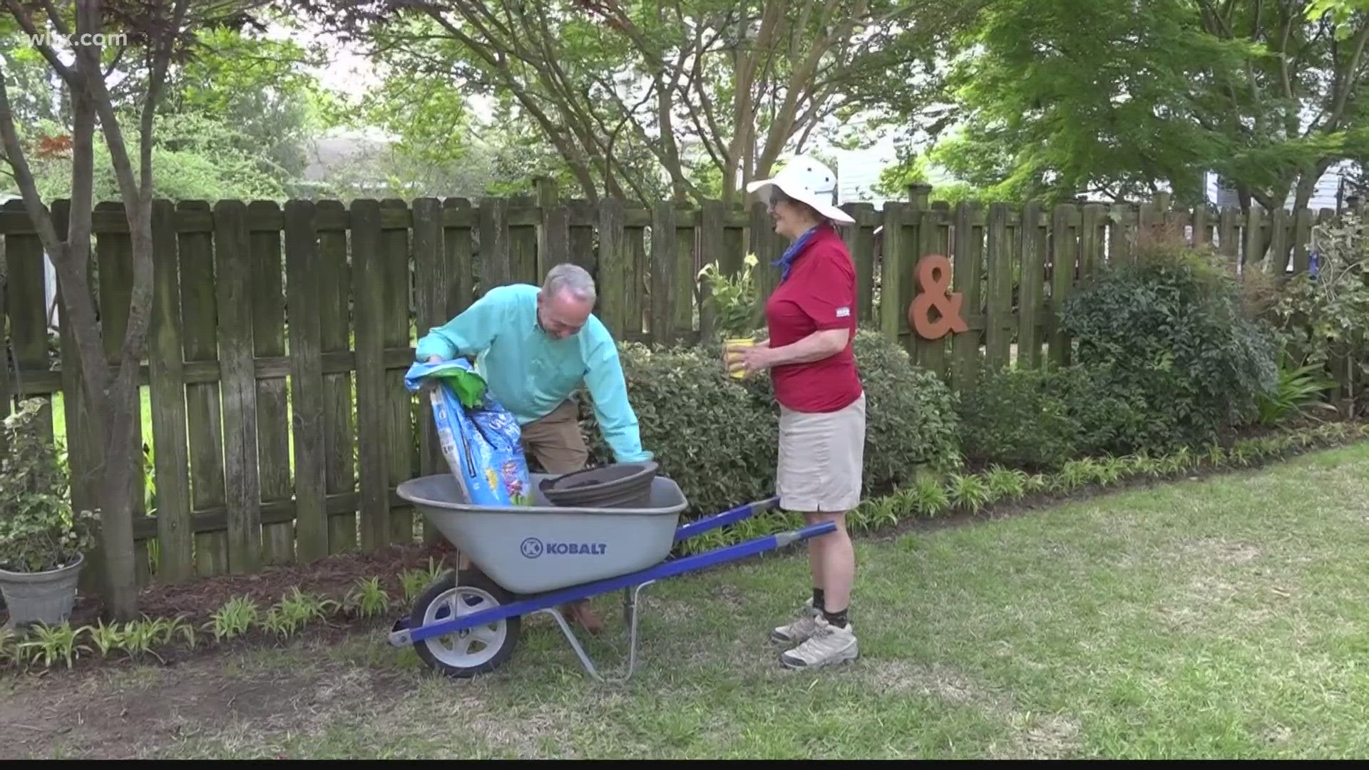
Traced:
MULTIPOLYGON (((669 348, 620 343, 619 351, 642 444, 684 490, 691 515, 773 493, 779 407, 768 377, 727 377, 717 343, 669 348)), ((910 481, 919 464, 954 467, 950 389, 875 332, 857 334, 856 362, 867 399, 865 493, 910 481)), ((591 462, 613 462, 589 399, 580 403, 591 462)))

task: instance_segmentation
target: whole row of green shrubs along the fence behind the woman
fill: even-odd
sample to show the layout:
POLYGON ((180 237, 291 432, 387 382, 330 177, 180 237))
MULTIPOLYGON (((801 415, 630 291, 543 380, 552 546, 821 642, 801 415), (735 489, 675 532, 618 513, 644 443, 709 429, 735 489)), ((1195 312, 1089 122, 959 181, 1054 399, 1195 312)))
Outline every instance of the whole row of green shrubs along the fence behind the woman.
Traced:
MULTIPOLYGON (((865 495, 964 460, 1038 473, 1080 458, 1192 451, 1257 421, 1272 399, 1298 407, 1316 397, 1280 390, 1288 378, 1275 330, 1218 255, 1165 243, 1142 251, 1066 300, 1066 366, 983 371, 956 395, 897 343, 861 329, 865 495)), ((643 444, 684 489, 690 515, 771 493, 779 408, 768 377, 730 378, 716 343, 620 351, 643 444)), ((587 406, 582 429, 593 460, 612 462, 587 406)))

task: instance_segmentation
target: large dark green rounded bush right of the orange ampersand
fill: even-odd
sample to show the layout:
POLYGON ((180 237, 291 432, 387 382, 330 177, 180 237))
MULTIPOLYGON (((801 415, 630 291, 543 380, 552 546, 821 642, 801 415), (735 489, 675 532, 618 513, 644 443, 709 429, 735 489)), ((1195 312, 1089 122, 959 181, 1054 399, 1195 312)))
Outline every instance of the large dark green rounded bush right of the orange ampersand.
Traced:
POLYGON ((1269 325, 1250 318, 1235 275, 1188 248, 1151 248, 1073 293, 1061 330, 1113 393, 1143 396, 1138 445, 1195 445, 1257 417, 1277 386, 1269 325))

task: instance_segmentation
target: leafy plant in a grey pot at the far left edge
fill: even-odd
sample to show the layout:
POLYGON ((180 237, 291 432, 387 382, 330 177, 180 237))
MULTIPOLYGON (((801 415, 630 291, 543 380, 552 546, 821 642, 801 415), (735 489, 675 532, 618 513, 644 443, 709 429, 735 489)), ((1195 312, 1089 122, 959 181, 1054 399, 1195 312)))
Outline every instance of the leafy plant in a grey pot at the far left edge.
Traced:
POLYGON ((7 626, 59 625, 75 606, 97 517, 73 511, 67 473, 40 430, 42 401, 27 399, 7 417, 0 458, 0 593, 7 626))

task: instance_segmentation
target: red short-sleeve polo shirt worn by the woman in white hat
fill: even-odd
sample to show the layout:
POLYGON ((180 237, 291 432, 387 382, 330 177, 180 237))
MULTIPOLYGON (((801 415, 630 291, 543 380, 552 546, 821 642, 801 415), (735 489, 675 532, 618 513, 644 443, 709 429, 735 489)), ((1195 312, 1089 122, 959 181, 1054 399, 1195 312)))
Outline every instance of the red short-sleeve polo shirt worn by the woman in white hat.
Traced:
POLYGON ((789 278, 765 301, 769 347, 791 345, 824 329, 849 329, 850 340, 826 359, 772 369, 775 400, 802 412, 832 412, 856 401, 861 395, 856 322, 856 266, 836 230, 820 225, 794 258, 789 278))

